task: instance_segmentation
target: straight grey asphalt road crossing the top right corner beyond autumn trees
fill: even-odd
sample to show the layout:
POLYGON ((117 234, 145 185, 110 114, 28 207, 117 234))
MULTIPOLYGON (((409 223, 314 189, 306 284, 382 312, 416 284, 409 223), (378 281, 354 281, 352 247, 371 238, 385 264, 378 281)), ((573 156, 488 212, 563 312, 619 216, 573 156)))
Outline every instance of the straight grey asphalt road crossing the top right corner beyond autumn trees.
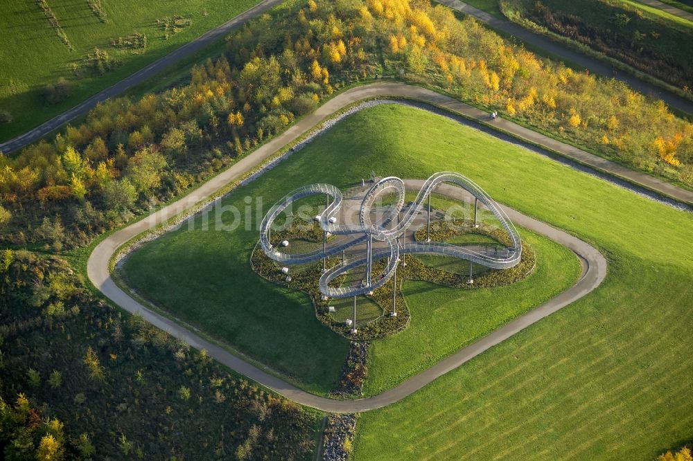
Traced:
POLYGON ((497 17, 489 15, 489 13, 482 11, 478 8, 474 8, 473 6, 467 5, 462 1, 436 1, 438 1, 439 3, 443 3, 444 5, 449 6, 450 8, 453 8, 453 10, 463 12, 465 15, 471 15, 476 19, 479 19, 479 21, 481 21, 482 23, 488 24, 496 30, 502 30, 502 32, 514 35, 522 39, 524 42, 527 42, 534 46, 538 46, 538 48, 548 51, 549 53, 552 53, 556 56, 559 56, 559 58, 565 59, 570 62, 574 62, 579 66, 584 66, 587 69, 589 69, 591 73, 597 73, 599 75, 604 75, 606 77, 613 77, 617 80, 621 80, 622 82, 626 82, 626 84, 628 84, 629 87, 635 89, 636 91, 640 91, 640 93, 661 99, 664 102, 666 102, 669 106, 676 107, 676 109, 684 111, 687 114, 693 114, 693 101, 687 100, 686 98, 681 98, 681 96, 678 96, 677 94, 672 93, 671 91, 667 91, 663 88, 657 87, 656 85, 645 82, 644 80, 640 80, 639 78, 635 77, 635 75, 631 75, 630 73, 627 73, 625 71, 618 70, 616 75, 613 75, 613 67, 611 66, 611 64, 606 64, 605 62, 584 55, 579 51, 575 51, 572 48, 569 48, 568 46, 560 44, 559 42, 554 42, 553 40, 548 39, 547 37, 543 37, 542 35, 530 32, 522 26, 518 26, 517 24, 514 24, 511 21, 507 21, 506 19, 498 19, 497 17))

